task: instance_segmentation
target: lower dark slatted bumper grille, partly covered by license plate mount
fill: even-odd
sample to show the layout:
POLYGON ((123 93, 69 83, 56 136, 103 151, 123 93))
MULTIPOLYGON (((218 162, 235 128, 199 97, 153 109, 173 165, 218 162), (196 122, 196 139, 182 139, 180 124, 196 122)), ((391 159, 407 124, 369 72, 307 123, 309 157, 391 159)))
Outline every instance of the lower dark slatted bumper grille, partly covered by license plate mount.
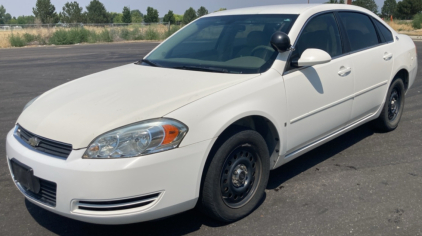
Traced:
POLYGON ((44 203, 48 206, 55 207, 56 206, 56 193, 57 193, 57 184, 50 182, 45 179, 40 179, 40 192, 34 193, 30 190, 26 190, 24 187, 22 187, 19 182, 17 182, 19 190, 28 196, 29 198, 32 198, 36 201, 39 201, 41 203, 44 203))

